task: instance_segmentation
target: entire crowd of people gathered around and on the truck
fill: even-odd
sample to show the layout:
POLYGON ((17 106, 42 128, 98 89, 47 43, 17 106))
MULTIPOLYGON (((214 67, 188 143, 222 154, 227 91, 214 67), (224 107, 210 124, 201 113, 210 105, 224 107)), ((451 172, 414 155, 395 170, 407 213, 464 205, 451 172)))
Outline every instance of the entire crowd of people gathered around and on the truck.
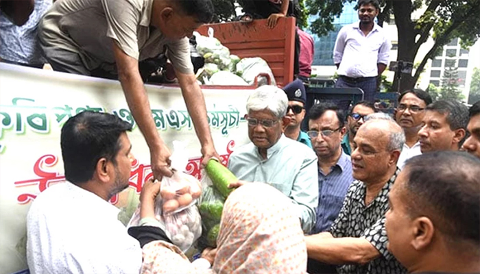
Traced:
MULTIPOLYGON (((187 38, 211 21, 211 0, 7 2, 0 2, 8 15, 2 29, 32 41, 28 52, 41 49, 55 71, 118 77, 155 178, 172 174, 170 151, 156 131, 139 63, 163 53, 195 125, 202 164, 219 158, 187 38)), ((274 7, 262 15, 269 25, 287 15, 288 2, 263 3, 274 7)), ((173 245, 154 214, 154 179, 143 185, 139 226, 125 229, 108 201, 128 187, 131 126, 112 114, 82 112, 60 136, 67 182, 38 195, 29 210, 29 270, 480 273, 480 101, 469 110, 411 89, 399 95, 393 116, 378 112, 374 92, 391 45, 374 23, 378 1, 359 0, 358 8, 360 21, 341 29, 334 61, 336 86, 361 88, 365 101, 347 112, 331 102, 307 111, 301 73, 283 89, 256 88, 245 102, 250 142, 228 161, 239 181, 230 184, 236 190, 224 206, 217 248, 191 262, 173 245)), ((12 36, 3 34, 6 45, 12 36)), ((3 49, 3 62, 45 62, 3 49)))

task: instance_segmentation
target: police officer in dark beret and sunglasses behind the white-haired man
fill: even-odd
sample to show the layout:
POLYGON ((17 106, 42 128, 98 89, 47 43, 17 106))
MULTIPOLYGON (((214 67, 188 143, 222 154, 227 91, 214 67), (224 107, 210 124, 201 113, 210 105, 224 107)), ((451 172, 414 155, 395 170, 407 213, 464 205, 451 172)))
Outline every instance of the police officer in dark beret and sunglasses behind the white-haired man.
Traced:
POLYGON ((285 86, 283 90, 287 93, 289 100, 287 116, 290 118, 290 123, 285 127, 285 136, 312 148, 309 136, 300 129, 305 118, 305 103, 307 101, 307 92, 302 80, 296 79, 285 86))

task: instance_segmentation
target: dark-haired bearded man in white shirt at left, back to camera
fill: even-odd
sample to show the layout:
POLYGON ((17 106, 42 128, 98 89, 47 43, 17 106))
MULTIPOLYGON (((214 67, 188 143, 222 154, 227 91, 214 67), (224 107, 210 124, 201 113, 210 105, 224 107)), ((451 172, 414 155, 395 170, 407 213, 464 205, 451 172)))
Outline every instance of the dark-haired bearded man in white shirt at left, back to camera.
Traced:
POLYGON ((130 124, 82 112, 62 127, 67 182, 49 187, 27 215, 31 273, 139 273, 142 250, 108 200, 128 187, 130 124))

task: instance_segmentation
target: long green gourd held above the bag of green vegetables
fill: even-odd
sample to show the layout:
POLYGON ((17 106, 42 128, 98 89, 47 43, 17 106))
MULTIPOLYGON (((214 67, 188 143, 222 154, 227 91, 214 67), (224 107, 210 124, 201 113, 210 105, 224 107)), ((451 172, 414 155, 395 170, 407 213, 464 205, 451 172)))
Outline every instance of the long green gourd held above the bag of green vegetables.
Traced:
POLYGON ((213 186, 226 199, 226 197, 230 195, 230 192, 234 190, 233 188, 228 188, 228 184, 237 182, 237 177, 224 165, 217 162, 217 160, 209 160, 205 169, 206 174, 213 182, 213 186))

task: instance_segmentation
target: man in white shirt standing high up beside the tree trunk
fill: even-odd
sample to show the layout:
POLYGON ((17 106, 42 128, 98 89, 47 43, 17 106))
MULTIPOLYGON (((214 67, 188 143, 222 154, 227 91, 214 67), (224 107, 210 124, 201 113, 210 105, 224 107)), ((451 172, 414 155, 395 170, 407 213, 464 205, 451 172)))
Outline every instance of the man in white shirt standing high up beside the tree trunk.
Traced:
POLYGON ((366 101, 374 101, 377 77, 389 62, 392 43, 374 22, 379 14, 377 0, 359 0, 359 22, 340 29, 333 49, 333 62, 339 78, 336 88, 361 88, 366 101))

